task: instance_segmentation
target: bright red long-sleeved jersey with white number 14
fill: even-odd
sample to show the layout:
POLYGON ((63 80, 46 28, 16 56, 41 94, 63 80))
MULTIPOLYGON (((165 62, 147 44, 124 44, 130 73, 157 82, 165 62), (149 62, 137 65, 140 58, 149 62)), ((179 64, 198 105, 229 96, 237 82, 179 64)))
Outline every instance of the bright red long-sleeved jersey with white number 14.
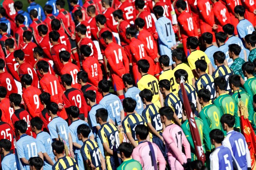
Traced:
POLYGON ((129 61, 124 52, 124 48, 111 42, 105 49, 105 56, 110 66, 110 73, 122 77, 123 74, 129 73, 129 61))

